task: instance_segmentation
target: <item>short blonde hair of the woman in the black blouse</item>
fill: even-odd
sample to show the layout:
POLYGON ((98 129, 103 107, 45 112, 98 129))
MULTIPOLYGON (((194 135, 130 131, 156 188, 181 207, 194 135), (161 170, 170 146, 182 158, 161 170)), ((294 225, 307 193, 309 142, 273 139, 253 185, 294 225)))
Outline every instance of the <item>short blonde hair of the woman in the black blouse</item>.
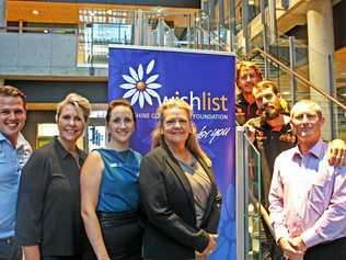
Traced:
POLYGON ((56 118, 59 118, 62 108, 68 104, 73 105, 78 113, 82 112, 80 116, 85 124, 91 112, 91 105, 88 99, 77 93, 68 94, 60 103, 58 103, 56 118))

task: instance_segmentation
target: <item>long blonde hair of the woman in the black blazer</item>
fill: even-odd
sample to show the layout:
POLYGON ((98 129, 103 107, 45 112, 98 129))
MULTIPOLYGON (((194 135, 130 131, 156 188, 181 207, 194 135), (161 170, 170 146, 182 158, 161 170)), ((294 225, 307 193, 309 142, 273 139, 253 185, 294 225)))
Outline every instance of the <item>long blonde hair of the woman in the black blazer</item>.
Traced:
POLYGON ((158 123, 157 127, 152 132, 152 148, 155 148, 158 146, 161 146, 162 143, 164 142, 164 136, 162 134, 162 124, 164 121, 164 112, 169 109, 181 109, 186 112, 188 115, 189 123, 192 125, 192 133, 189 133, 188 138, 185 143, 185 146, 192 154, 198 158, 201 158, 208 166, 211 166, 211 160, 207 156, 207 154, 200 148, 199 143, 197 140, 197 135, 196 135, 196 128, 193 124, 192 117, 193 117, 193 110, 189 104, 187 104, 184 100, 173 98, 169 99, 164 103, 162 103, 159 109, 158 109, 158 114, 160 115, 160 122, 158 123))

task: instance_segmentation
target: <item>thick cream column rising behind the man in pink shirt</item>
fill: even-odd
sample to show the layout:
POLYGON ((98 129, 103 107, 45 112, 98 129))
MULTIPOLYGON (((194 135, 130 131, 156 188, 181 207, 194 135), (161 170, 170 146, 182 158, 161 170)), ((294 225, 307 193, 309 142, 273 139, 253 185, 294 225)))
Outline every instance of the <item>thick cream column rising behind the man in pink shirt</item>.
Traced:
MULTIPOLYGON (((334 54, 333 5, 330 0, 312 2, 312 7, 307 13, 310 81, 330 93, 327 55, 334 54)), ((322 106, 322 113, 326 120, 322 135, 325 139, 331 139, 332 114, 328 110, 327 99, 314 90, 310 91, 310 97, 322 106)))

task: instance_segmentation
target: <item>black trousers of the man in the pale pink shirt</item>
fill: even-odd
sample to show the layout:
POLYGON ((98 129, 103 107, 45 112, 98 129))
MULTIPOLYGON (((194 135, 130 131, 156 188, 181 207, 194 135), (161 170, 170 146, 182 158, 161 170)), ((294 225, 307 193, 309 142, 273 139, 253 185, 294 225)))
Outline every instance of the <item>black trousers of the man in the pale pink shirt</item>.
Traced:
POLYGON ((346 237, 309 248, 304 260, 346 260, 346 237))

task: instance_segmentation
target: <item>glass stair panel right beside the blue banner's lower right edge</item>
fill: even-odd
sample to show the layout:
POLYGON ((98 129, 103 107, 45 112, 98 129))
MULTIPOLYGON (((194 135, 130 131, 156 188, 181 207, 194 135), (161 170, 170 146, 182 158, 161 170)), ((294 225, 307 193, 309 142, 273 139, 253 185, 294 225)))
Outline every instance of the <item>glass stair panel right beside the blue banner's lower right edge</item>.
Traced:
POLYGON ((242 127, 237 127, 238 255, 262 260, 265 234, 261 207, 261 156, 242 127))

